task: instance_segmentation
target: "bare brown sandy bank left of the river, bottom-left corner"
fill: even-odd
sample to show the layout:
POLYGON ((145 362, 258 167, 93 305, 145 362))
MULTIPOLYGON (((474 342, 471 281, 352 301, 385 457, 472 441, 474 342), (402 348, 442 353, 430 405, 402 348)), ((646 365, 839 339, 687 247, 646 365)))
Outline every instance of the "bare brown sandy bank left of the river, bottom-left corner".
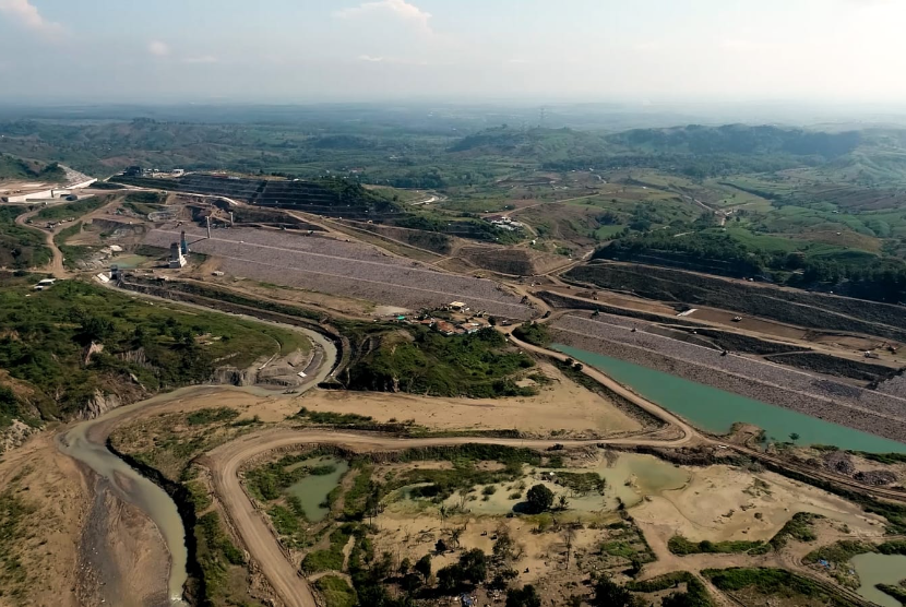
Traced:
POLYGON ((156 528, 104 487, 93 500, 92 488, 102 483, 57 451, 51 432, 3 454, 0 488, 15 477, 17 497, 34 508, 15 547, 27 576, 20 598, 2 596, 0 605, 70 607, 105 598, 124 607, 169 604, 166 584, 154 587, 168 568, 156 528), (122 574, 112 575, 117 570, 122 574))

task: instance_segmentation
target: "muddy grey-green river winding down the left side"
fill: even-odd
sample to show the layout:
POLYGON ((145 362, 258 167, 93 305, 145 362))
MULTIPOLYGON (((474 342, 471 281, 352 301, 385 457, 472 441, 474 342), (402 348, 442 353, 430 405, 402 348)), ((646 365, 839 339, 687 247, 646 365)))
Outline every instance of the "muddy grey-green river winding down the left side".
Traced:
MULTIPOLYGON (((319 333, 299 328, 291 329, 303 333, 314 344, 320 346, 315 348, 315 356, 319 353, 323 353, 318 372, 303 389, 308 390, 326 379, 330 374, 336 360, 336 347, 319 333)), ((186 569, 188 561, 186 529, 182 526, 182 520, 179 517, 176 503, 174 503, 164 489, 143 477, 126 462, 114 455, 107 449, 106 442, 107 437, 110 436, 110 432, 117 426, 117 421, 122 417, 134 414, 139 409, 170 403, 194 392, 212 389, 226 390, 224 386, 211 385, 182 388, 167 394, 159 394, 146 401, 112 409, 96 419, 83 421, 57 437, 57 445, 62 453, 87 465, 95 474, 105 478, 121 499, 141 509, 154 522, 170 555, 168 588, 170 602, 174 605, 184 605, 182 602, 182 593, 188 579, 186 569)), ((228 390, 242 390, 255 395, 282 395, 282 392, 253 386, 241 389, 230 386, 228 390)))

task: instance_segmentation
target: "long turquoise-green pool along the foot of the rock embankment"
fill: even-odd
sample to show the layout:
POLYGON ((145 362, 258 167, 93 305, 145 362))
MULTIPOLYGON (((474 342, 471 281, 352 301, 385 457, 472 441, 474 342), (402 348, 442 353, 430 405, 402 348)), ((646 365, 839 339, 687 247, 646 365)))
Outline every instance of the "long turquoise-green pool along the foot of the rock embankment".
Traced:
POLYGON ((591 365, 642 396, 687 419, 699 428, 725 435, 737 421, 763 428, 767 437, 786 441, 791 432, 799 435, 799 444, 832 444, 841 449, 871 453, 906 453, 906 444, 837 424, 824 421, 795 410, 785 409, 655 371, 609 356, 601 356, 557 344, 556 349, 591 365))

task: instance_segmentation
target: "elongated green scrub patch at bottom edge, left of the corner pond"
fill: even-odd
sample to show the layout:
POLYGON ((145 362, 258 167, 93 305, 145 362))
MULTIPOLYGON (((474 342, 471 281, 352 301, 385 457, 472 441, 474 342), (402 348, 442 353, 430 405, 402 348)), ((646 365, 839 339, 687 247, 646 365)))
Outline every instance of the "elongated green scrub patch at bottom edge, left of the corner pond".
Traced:
POLYGON ((705 569, 702 575, 724 592, 751 588, 759 594, 780 596, 792 600, 804 597, 834 607, 854 606, 850 600, 828 594, 811 580, 783 569, 705 569))

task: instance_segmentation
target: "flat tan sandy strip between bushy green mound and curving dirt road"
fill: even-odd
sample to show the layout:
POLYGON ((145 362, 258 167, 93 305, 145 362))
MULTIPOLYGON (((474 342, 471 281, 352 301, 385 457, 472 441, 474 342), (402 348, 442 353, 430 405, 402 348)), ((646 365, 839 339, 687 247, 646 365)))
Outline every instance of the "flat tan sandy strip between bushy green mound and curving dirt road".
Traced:
POLYGON ((518 428, 529 436, 594 438, 642 430, 642 425, 606 398, 568 381, 552 366, 541 365, 553 383, 540 394, 520 398, 429 398, 373 392, 311 392, 299 406, 370 415, 378 421, 412 419, 438 430, 518 428))

